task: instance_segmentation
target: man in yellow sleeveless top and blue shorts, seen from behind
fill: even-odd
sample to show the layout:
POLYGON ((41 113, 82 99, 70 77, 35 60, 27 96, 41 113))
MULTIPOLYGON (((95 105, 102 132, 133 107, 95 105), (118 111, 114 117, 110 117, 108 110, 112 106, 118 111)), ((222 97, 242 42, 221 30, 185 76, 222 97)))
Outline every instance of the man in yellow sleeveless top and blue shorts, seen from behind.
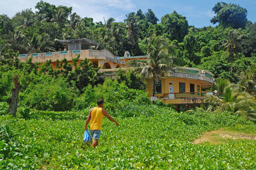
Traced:
POLYGON ((92 134, 92 146, 95 148, 99 145, 99 138, 101 134, 101 128, 102 128, 102 120, 103 117, 106 116, 110 121, 113 121, 116 123, 116 127, 119 126, 119 123, 115 121, 111 116, 109 116, 108 112, 103 109, 104 100, 100 98, 97 100, 97 107, 93 107, 88 115, 88 118, 85 123, 85 130, 88 130, 87 125, 90 122, 90 131, 92 134))

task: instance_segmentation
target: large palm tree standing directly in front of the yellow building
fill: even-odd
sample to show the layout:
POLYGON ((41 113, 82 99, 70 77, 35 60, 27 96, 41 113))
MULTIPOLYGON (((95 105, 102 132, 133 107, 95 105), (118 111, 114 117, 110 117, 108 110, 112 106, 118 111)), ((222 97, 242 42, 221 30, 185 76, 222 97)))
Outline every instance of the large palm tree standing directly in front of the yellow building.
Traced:
POLYGON ((155 84, 162 73, 172 69, 174 57, 174 46, 161 36, 152 35, 148 40, 147 59, 134 59, 127 63, 129 66, 139 66, 142 68, 141 77, 153 76, 153 97, 155 95, 155 84))

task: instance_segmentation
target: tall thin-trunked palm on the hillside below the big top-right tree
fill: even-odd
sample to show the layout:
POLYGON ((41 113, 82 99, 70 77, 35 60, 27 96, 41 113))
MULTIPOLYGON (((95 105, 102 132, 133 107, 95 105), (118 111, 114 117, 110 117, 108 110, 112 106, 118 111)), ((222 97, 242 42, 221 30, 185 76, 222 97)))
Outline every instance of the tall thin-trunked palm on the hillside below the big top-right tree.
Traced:
POLYGON ((244 35, 239 35, 236 29, 230 30, 228 32, 228 36, 226 36, 226 40, 223 42, 223 46, 226 49, 226 54, 229 57, 229 61, 231 64, 230 73, 233 72, 233 61, 234 61, 234 54, 236 57, 239 57, 239 52, 241 50, 241 42, 244 38, 244 35))

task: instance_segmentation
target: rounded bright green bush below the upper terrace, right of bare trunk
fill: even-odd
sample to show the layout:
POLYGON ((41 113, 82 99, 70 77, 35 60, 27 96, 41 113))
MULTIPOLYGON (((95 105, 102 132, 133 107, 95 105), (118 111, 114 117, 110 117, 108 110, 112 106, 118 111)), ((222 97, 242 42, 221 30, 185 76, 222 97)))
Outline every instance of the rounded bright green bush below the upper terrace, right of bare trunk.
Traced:
POLYGON ((68 111, 76 94, 63 79, 46 79, 20 93, 20 103, 37 110, 68 111))

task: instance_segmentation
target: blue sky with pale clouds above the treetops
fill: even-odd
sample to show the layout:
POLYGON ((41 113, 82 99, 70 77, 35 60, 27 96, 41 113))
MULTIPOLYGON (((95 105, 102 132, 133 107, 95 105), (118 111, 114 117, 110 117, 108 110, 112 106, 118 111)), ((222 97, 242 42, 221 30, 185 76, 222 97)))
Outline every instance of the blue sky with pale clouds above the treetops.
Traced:
MULTIPOLYGON (((0 14, 13 17, 15 13, 26 8, 35 12, 35 5, 39 0, 0 0, 0 14)), ((102 21, 103 18, 113 17, 117 22, 124 22, 125 15, 130 12, 148 8, 161 20, 166 13, 174 10, 186 17, 189 25, 195 27, 214 26, 210 20, 214 16, 212 7, 220 2, 216 0, 45 0, 56 6, 72 6, 73 11, 81 17, 92 17, 94 22, 102 21)), ((221 0, 225 3, 239 4, 248 11, 247 19, 256 22, 256 0, 221 0)))

